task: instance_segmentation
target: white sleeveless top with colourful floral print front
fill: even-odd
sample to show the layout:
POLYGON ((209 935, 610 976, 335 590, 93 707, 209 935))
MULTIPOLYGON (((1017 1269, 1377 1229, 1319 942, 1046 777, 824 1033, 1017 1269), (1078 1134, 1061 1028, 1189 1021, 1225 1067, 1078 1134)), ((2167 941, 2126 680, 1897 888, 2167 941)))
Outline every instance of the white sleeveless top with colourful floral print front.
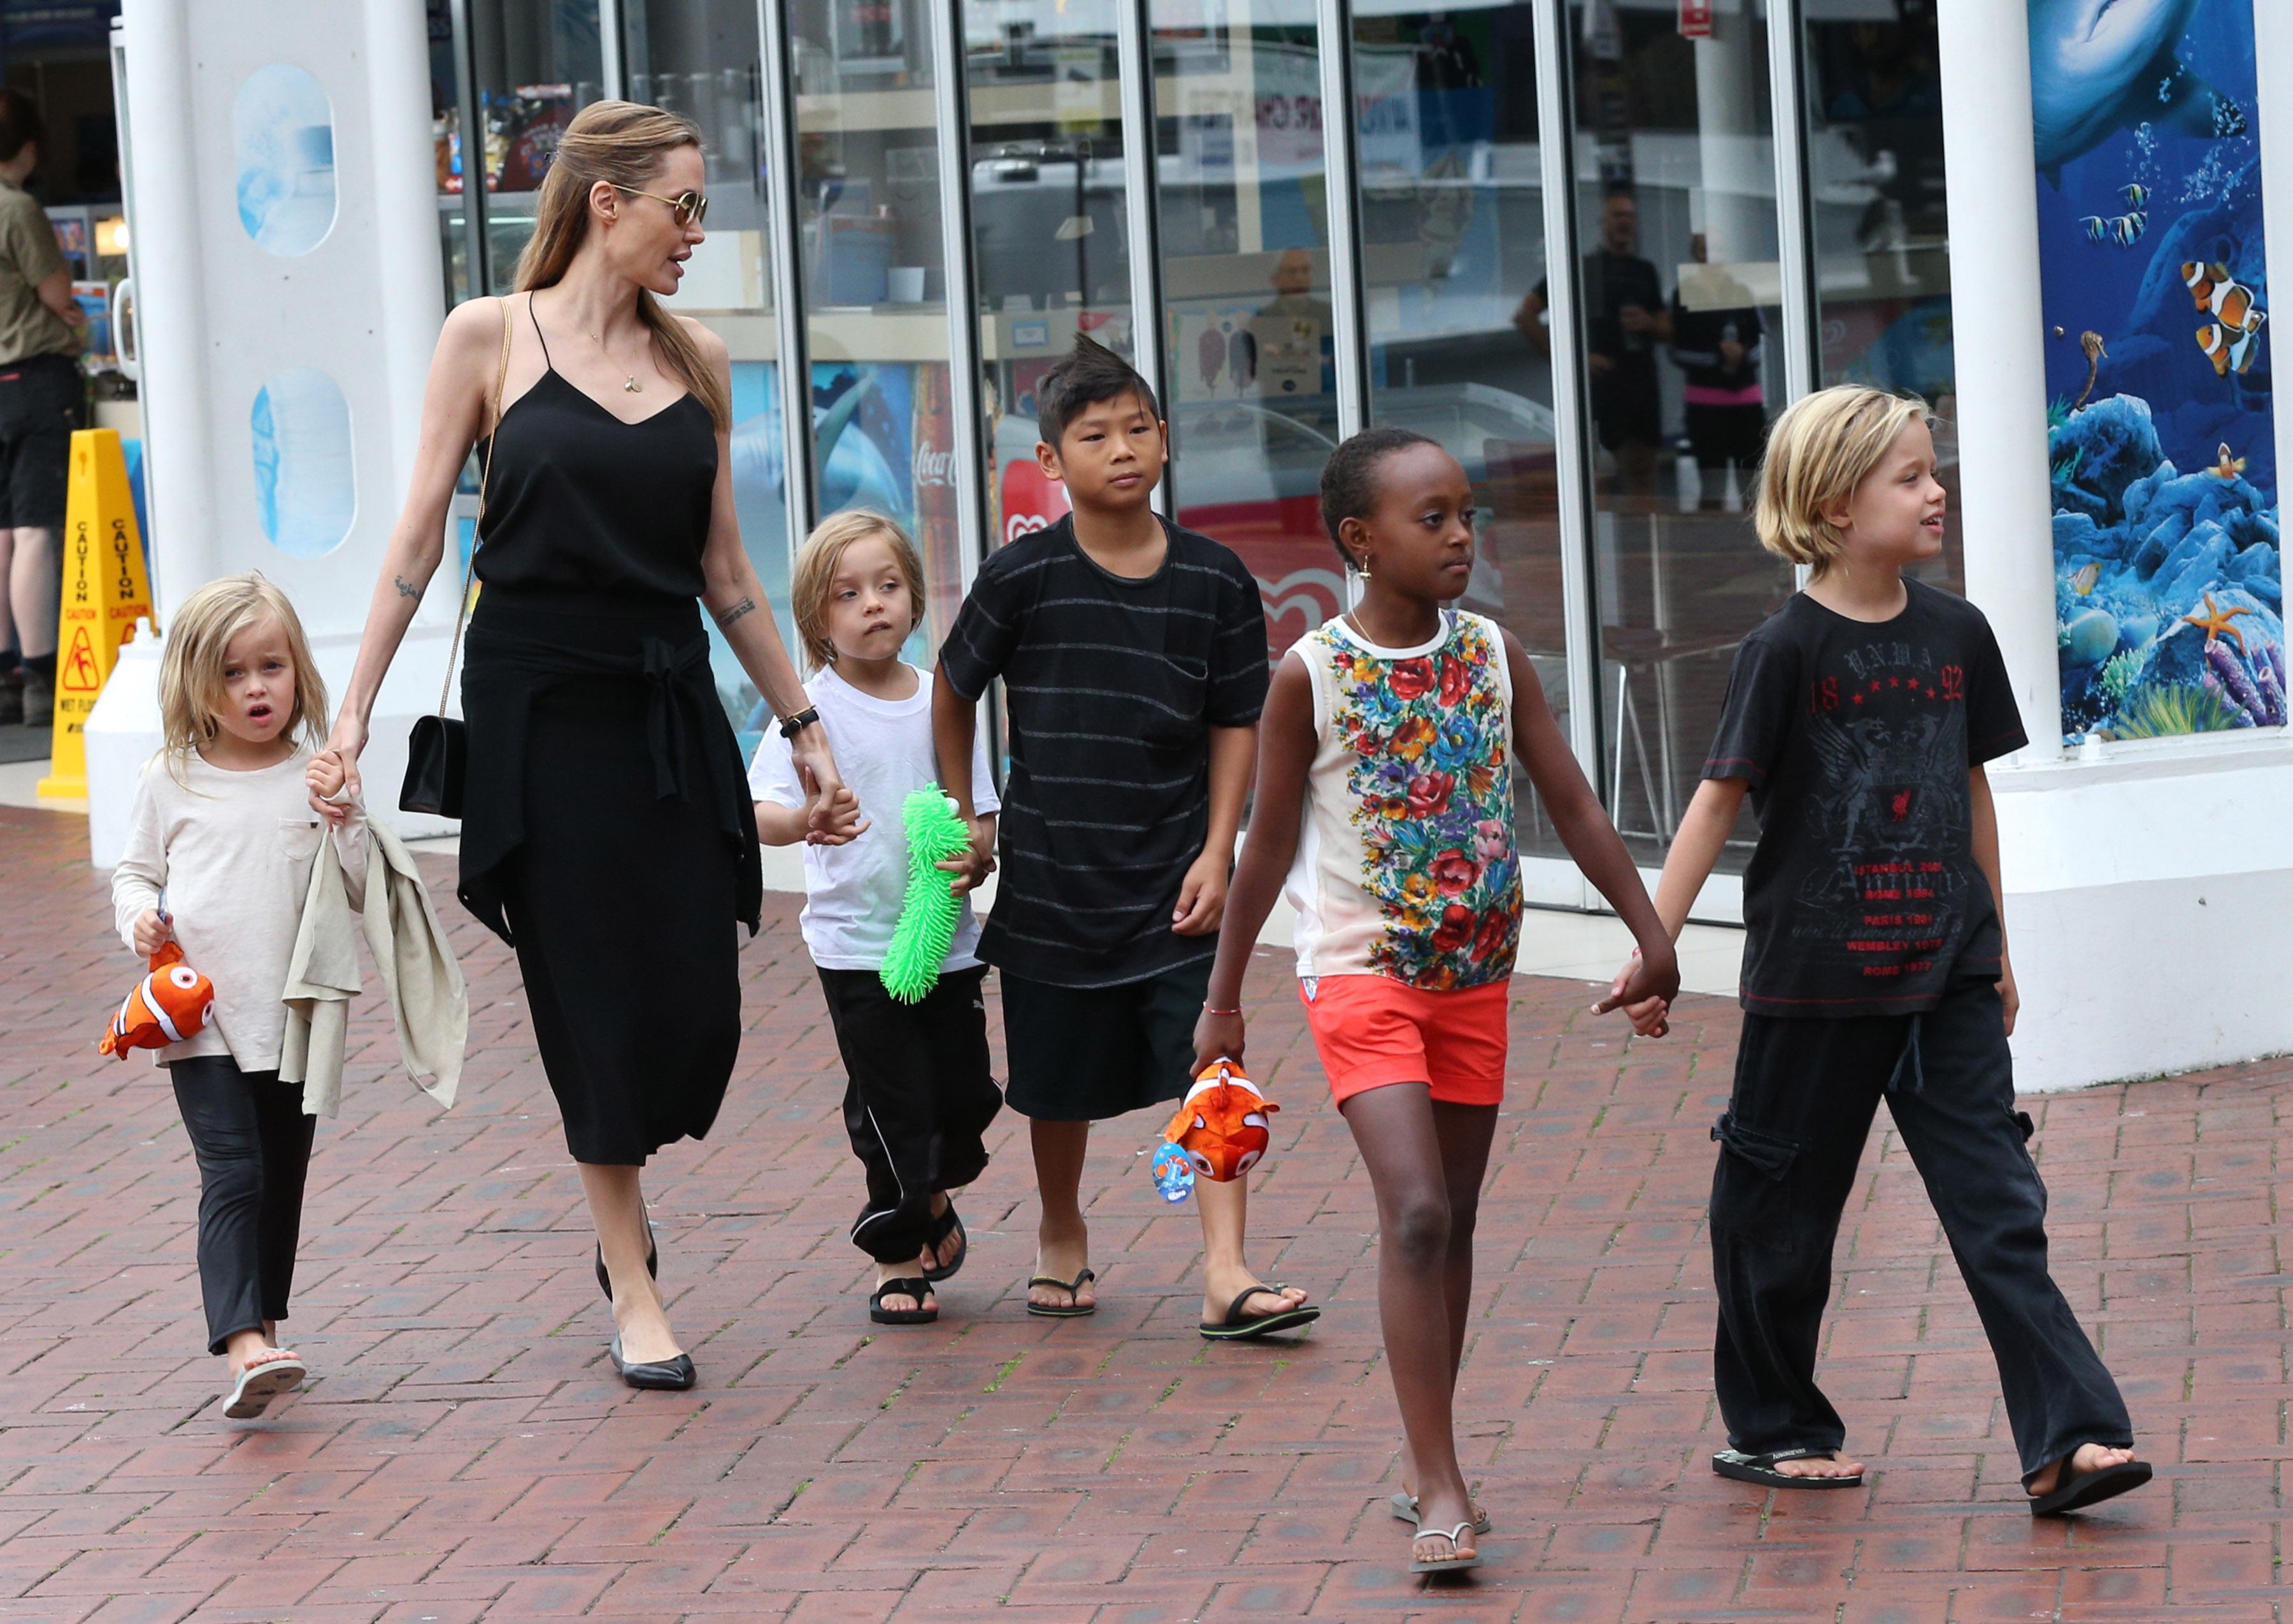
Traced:
POLYGON ((1513 973, 1513 851, 1504 635, 1447 610, 1415 649, 1383 649, 1344 617, 1284 658, 1314 679, 1314 764, 1289 899, 1298 975, 1390 975, 1447 991, 1513 973))

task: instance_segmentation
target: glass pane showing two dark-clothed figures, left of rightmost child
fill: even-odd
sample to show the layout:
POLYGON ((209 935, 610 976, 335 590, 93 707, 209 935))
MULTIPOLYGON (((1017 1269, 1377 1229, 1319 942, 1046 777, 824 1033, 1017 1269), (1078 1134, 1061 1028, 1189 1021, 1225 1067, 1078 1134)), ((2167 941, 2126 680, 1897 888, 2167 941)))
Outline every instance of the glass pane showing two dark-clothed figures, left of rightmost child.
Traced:
MULTIPOLYGON (((1701 778, 1736 645, 1793 590, 1750 500, 1782 397, 1766 0, 1571 0, 1578 273, 1594 440, 1601 775, 1658 867, 1701 778)), ((1545 289, 1523 330, 1536 337, 1545 289)), ((1722 858, 1740 872, 1750 814, 1722 858)))

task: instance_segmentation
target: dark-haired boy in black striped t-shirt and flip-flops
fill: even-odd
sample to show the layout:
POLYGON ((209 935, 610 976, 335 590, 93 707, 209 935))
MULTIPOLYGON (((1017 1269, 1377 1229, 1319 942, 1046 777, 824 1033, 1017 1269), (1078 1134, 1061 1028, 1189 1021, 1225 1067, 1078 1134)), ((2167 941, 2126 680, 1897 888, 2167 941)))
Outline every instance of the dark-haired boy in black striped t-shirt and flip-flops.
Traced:
MULTIPOLYGON (((1266 702, 1266 612, 1231 551, 1153 512, 1169 434, 1128 362, 1078 335, 1036 413, 1036 459, 1073 514, 981 564, 931 720, 940 782, 970 817, 977 702, 1004 679, 1002 881, 979 957, 1002 973, 1007 1103, 1030 1119, 1043 1197, 1027 1312, 1071 1319, 1098 1305, 1080 1207, 1091 1122, 1192 1080, 1266 702)), ((1243 1181, 1195 1188, 1202 1333, 1318 1317, 1243 1262, 1243 1181)))

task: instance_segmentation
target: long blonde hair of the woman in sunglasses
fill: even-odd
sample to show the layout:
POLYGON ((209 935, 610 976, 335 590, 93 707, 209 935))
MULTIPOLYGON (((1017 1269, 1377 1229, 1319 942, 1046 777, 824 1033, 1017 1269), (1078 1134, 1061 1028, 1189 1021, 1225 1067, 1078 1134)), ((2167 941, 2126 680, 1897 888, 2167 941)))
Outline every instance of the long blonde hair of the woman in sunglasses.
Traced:
MULTIPOLYGON (((573 255, 589 241, 589 188, 598 181, 621 190, 654 190, 663 161, 679 147, 699 147, 699 126, 635 101, 592 101, 557 138, 557 156, 541 177, 534 202, 534 234, 518 255, 518 291, 530 294, 564 280, 573 255)), ((731 399, 715 369, 683 323, 637 289, 637 319, 654 333, 660 360, 692 390, 718 429, 731 427, 731 399)))

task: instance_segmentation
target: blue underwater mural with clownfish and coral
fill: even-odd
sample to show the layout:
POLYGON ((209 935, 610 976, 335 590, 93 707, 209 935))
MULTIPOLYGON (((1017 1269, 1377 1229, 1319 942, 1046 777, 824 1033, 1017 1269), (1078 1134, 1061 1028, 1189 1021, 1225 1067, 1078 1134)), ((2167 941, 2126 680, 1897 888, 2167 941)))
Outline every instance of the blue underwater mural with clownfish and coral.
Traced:
POLYGON ((2254 0, 2029 0, 2061 723, 2286 723, 2254 0))

